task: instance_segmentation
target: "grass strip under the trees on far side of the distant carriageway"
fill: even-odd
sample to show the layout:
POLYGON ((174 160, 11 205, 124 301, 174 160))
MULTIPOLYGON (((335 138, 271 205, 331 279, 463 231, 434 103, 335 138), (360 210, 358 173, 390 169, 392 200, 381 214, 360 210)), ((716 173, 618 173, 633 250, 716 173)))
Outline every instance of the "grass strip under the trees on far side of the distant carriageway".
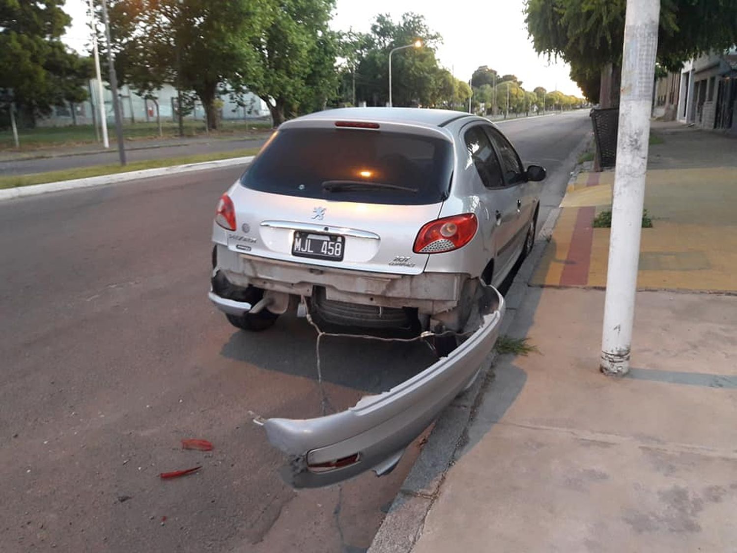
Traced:
MULTIPOLYGON (((218 136, 229 137, 237 133, 251 133, 251 131, 259 132, 270 130, 269 122, 248 122, 248 128, 245 121, 223 121, 220 123, 220 129, 210 131, 209 136, 217 138, 218 136)), ((138 140, 152 139, 170 139, 179 136, 179 125, 176 122, 162 122, 161 130, 163 136, 158 136, 158 125, 156 122, 136 122, 123 125, 123 138, 126 142, 138 140)), ((116 144, 115 125, 108 125, 108 134, 110 135, 111 145, 116 144)), ((205 125, 195 121, 184 122, 184 136, 204 136, 205 125)), ((75 146, 83 144, 96 144, 97 137, 92 125, 75 125, 68 127, 38 127, 32 129, 19 129, 18 139, 21 142, 21 151, 39 150, 45 147, 62 147, 75 146)), ((13 142, 13 133, 10 130, 0 131, 0 150, 15 150, 15 142, 13 142)))

